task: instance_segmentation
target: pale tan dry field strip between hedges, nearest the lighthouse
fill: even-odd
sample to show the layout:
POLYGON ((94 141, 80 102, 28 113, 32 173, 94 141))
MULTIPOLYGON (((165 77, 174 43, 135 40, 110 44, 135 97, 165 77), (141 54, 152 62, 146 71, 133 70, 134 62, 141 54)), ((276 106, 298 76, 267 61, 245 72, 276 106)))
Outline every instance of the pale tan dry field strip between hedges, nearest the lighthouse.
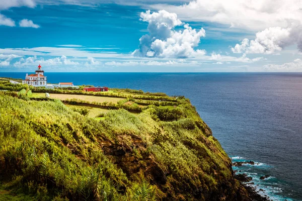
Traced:
MULTIPOLYGON (((90 95, 72 95, 72 94, 57 94, 57 93, 49 93, 50 98, 66 100, 66 99, 80 99, 89 102, 111 102, 116 104, 119 100, 123 100, 124 98, 120 97, 105 97, 105 96, 90 96, 90 95)), ((33 93, 33 97, 45 97, 45 93, 33 93)))

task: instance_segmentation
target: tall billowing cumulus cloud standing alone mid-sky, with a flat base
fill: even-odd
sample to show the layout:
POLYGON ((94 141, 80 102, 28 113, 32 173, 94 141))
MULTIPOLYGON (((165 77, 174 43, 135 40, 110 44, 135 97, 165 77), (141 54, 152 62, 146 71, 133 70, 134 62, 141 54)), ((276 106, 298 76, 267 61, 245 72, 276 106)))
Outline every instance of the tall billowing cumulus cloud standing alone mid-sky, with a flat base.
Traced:
POLYGON ((204 55, 205 50, 194 50, 205 37, 205 31, 192 29, 183 24, 175 13, 161 10, 140 14, 140 20, 148 22, 148 32, 139 39, 139 48, 133 52, 134 56, 161 58, 188 58, 204 55), (176 26, 183 25, 183 31, 175 31, 176 26))

